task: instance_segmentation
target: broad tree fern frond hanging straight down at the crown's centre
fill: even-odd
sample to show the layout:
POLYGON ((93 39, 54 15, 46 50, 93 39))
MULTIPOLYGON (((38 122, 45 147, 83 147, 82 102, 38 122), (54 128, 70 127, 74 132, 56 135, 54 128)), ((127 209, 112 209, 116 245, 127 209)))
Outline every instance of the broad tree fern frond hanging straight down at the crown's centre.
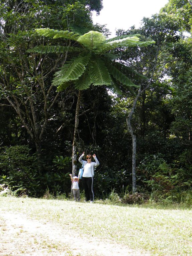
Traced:
POLYGON ((91 63, 90 79, 93 85, 109 85, 112 80, 105 63, 97 59, 91 63))

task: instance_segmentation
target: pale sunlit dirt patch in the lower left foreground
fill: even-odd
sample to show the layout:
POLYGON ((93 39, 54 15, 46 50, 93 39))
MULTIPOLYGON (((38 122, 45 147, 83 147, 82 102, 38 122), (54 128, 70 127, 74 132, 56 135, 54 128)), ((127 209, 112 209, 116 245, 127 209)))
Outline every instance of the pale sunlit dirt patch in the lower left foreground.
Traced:
POLYGON ((65 229, 50 222, 28 219, 23 214, 0 212, 0 256, 149 256, 146 252, 80 236, 70 225, 65 229))

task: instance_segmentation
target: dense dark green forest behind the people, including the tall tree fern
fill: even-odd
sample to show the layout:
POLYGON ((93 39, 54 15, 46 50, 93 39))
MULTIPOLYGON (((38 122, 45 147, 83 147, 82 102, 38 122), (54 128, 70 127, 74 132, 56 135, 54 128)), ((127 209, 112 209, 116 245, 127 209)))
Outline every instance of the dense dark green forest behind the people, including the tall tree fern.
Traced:
POLYGON ((0 192, 68 195, 85 151, 97 198, 192 202, 192 2, 115 38, 101 9, 0 0, 0 192))

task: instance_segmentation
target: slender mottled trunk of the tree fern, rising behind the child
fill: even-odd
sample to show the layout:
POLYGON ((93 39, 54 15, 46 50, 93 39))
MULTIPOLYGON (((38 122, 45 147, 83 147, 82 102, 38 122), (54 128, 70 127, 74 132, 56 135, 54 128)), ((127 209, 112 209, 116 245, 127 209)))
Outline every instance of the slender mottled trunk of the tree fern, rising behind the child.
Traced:
POLYGON ((75 129, 73 136, 73 150, 72 150, 72 176, 77 175, 77 134, 78 134, 78 124, 79 124, 79 109, 81 101, 81 91, 78 93, 77 106, 75 112, 75 129))

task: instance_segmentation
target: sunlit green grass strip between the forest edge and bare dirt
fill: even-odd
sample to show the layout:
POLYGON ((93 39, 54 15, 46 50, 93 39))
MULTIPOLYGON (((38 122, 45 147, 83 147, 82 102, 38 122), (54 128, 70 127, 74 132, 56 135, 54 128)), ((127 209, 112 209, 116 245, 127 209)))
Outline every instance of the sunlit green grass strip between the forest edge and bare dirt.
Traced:
POLYGON ((192 255, 192 210, 160 205, 118 206, 70 200, 0 197, 2 211, 22 212, 26 216, 51 221, 63 228, 151 255, 192 255), (157 207, 156 207, 157 206, 157 207))

